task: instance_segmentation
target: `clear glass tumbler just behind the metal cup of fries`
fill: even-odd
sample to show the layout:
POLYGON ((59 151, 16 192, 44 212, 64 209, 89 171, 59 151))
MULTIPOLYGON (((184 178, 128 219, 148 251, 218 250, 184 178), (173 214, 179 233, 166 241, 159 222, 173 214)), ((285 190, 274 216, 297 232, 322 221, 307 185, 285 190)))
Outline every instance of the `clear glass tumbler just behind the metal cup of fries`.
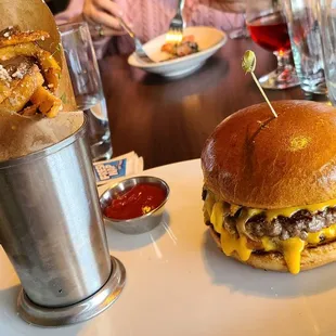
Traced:
POLYGON ((59 26, 77 108, 88 116, 93 161, 112 157, 111 133, 98 61, 87 23, 59 26))

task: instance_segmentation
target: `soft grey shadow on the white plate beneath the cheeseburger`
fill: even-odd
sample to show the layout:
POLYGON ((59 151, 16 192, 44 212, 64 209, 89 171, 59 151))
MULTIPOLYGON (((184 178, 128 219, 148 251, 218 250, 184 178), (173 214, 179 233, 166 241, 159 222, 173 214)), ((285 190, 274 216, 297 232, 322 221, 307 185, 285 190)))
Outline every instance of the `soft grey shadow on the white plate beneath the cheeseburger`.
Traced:
POLYGON ((262 297, 303 297, 335 288, 336 263, 298 275, 253 269, 225 257, 209 230, 204 233, 205 268, 218 286, 262 297))

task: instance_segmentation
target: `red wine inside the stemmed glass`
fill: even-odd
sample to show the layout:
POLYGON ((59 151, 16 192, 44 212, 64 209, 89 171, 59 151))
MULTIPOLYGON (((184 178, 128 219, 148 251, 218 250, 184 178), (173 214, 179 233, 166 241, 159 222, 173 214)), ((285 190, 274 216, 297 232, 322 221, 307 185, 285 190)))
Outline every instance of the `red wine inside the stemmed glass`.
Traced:
POLYGON ((282 13, 257 17, 247 24, 250 37, 269 51, 284 52, 290 49, 286 21, 282 13))

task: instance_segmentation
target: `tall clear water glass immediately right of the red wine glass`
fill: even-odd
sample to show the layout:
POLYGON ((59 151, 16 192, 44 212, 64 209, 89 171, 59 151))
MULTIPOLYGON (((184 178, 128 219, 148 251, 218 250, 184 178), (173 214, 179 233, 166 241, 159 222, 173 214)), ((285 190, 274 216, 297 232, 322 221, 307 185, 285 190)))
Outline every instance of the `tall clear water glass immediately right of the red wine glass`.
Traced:
POLYGON ((321 27, 315 0, 285 0, 285 15, 302 90, 326 94, 321 27))

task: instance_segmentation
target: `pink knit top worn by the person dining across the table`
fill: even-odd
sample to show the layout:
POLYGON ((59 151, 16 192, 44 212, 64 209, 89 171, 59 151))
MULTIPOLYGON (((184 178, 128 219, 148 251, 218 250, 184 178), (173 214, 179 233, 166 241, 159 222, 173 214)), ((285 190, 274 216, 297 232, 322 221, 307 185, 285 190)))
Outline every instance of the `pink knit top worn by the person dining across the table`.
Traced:
MULTIPOLYGON (((115 0, 122 9, 126 18, 145 42, 167 31, 177 10, 177 0, 115 0)), ((56 15, 57 24, 80 18, 85 0, 70 0, 66 11, 56 15)), ((184 16, 190 26, 214 26, 231 30, 244 25, 244 0, 185 0, 184 16)), ((134 50, 128 36, 116 37, 119 53, 128 54, 134 50)), ((112 44, 109 38, 95 41, 98 57, 102 57, 112 44)))

